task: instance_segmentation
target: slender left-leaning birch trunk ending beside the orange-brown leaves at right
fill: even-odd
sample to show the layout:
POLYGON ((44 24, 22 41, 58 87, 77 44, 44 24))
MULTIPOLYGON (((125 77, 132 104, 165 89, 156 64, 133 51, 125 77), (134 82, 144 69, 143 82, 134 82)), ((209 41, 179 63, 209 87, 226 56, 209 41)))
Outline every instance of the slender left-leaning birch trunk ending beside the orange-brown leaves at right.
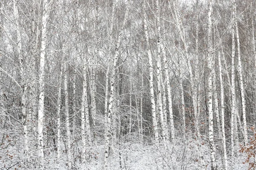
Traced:
POLYGON ((245 97, 244 97, 244 81, 242 75, 242 65, 241 65, 241 51, 240 51, 240 40, 239 40, 239 31, 238 31, 238 22, 236 19, 236 0, 233 0, 234 6, 234 22, 236 27, 236 41, 237 41, 237 54, 238 54, 238 72, 239 72, 239 83, 241 89, 241 100, 242 100, 242 112, 243 112, 243 123, 244 123, 244 144, 248 143, 247 136, 247 122, 246 122, 246 110, 245 110, 245 97))

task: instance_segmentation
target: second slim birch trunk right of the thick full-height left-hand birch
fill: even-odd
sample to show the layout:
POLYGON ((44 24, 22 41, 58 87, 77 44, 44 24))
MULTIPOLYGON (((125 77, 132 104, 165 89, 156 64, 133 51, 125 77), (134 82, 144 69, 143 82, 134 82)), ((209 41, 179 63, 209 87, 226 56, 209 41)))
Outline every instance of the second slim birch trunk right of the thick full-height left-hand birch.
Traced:
POLYGON ((64 63, 64 77, 63 77, 63 84, 64 84, 64 94, 65 94, 65 117, 66 117, 66 140, 67 140, 67 169, 71 170, 71 150, 70 150, 70 123, 69 123, 69 105, 68 105, 68 89, 67 89, 67 63, 64 63))

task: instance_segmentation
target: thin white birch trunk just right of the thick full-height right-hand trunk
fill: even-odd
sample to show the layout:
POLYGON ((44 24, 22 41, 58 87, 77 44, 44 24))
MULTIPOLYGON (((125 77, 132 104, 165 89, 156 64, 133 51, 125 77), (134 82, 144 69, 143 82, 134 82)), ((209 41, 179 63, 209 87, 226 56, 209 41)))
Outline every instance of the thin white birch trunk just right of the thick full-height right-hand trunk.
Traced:
POLYGON ((222 134, 222 147, 223 147, 223 157, 224 157, 224 170, 228 170, 227 166, 227 149, 226 149, 226 136, 225 136, 225 117, 224 117, 224 87, 222 80, 222 67, 221 67, 221 53, 218 51, 218 67, 219 67, 219 79, 221 85, 221 134, 222 134))

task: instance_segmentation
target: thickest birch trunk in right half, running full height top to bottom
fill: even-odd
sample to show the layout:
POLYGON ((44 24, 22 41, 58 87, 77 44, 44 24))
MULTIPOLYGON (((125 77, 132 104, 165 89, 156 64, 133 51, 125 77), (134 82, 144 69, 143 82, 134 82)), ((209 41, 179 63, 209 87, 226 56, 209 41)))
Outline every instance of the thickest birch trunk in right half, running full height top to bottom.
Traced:
POLYGON ((215 149, 213 141, 213 110, 212 110, 212 0, 208 1, 208 57, 207 66, 209 69, 208 75, 208 112, 209 112, 209 145, 210 145, 210 155, 211 155, 211 167, 212 170, 217 170, 217 164, 215 160, 215 149))

